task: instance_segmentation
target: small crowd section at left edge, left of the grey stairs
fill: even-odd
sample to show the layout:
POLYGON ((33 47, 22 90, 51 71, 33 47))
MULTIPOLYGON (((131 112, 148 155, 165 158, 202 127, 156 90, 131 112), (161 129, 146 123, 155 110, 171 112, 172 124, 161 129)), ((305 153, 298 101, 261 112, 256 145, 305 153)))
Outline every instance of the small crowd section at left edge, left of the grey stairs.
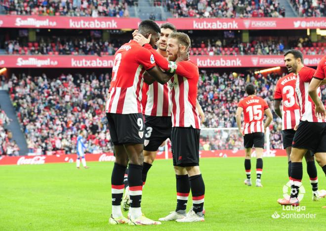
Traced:
POLYGON ((4 128, 9 125, 10 119, 0 108, 0 155, 19 155, 19 147, 15 140, 12 139, 12 133, 4 128))

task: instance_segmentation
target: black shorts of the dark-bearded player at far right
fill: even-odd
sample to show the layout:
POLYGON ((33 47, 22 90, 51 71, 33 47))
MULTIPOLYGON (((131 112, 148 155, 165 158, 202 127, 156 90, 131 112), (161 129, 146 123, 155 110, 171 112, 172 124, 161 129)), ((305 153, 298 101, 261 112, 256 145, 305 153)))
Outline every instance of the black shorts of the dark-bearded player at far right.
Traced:
POLYGON ((308 149, 312 154, 326 152, 326 123, 300 121, 292 147, 308 149))

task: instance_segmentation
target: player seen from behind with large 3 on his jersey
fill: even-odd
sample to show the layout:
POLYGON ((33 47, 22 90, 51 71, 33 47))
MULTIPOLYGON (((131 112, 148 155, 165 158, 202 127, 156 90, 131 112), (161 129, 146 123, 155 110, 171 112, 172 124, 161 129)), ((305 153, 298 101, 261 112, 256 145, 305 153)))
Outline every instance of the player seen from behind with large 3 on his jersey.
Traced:
MULTIPOLYGON (((274 108, 275 113, 282 118, 282 140, 283 147, 286 150, 288 168, 288 177, 291 180, 291 160, 290 154, 292 149, 292 141, 295 134, 294 127, 300 121, 300 106, 297 103, 295 95, 296 74, 290 73, 278 80, 274 92, 274 108), (280 105, 283 101, 283 110, 280 105)), ((313 201, 318 201, 320 197, 325 196, 325 190, 318 191, 317 169, 314 156, 310 155, 310 151, 306 152, 305 159, 307 162, 307 173, 310 178, 310 184, 313 190, 313 201)))

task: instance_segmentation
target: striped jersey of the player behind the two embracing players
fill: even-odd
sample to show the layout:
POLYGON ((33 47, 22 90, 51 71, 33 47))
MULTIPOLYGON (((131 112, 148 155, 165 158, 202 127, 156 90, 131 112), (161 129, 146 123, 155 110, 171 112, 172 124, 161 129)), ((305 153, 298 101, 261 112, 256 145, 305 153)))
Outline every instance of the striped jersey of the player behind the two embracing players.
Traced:
POLYGON ((147 92, 145 115, 171 116, 170 88, 168 84, 154 82, 151 85, 144 84, 147 92))

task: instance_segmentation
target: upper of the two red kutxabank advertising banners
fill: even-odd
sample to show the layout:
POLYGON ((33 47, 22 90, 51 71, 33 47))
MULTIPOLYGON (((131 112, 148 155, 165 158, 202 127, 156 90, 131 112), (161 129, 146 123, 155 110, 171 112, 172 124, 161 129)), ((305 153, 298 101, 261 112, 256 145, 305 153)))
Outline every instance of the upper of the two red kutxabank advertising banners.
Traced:
MULTIPOLYGON (((136 29, 140 18, 1 15, 0 27, 46 29, 136 29)), ((158 21, 162 24, 166 21, 158 21)), ((325 29, 320 18, 168 18, 178 30, 325 29)))

